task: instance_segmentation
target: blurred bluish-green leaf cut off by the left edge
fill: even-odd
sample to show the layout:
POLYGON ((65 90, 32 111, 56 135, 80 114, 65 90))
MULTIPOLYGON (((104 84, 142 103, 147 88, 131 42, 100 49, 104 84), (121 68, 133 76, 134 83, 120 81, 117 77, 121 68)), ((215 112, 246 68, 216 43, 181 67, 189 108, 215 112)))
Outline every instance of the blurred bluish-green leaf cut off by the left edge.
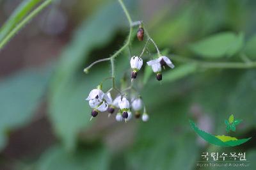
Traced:
POLYGON ((31 120, 47 87, 49 70, 49 66, 21 70, 0 82, 0 150, 7 132, 31 120))

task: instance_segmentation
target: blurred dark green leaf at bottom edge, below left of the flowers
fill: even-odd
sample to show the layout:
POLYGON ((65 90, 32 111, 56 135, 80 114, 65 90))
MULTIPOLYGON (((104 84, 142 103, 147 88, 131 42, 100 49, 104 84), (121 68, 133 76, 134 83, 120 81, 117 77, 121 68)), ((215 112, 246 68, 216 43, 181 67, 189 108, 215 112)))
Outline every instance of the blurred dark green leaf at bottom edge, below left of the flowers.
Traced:
POLYGON ((38 160, 39 170, 104 170, 109 167, 109 154, 102 146, 79 148, 75 153, 67 153, 61 146, 53 146, 38 160))

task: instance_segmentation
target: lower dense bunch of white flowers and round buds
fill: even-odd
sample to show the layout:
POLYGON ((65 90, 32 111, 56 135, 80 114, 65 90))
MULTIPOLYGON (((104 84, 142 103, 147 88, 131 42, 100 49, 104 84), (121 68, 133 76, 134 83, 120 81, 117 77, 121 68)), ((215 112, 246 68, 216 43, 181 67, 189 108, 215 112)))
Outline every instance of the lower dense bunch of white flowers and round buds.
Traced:
MULTIPOLYGON (((126 97, 118 95, 115 100, 111 97, 111 94, 104 93, 101 89, 93 89, 88 97, 90 107, 92 110, 92 118, 96 117, 99 112, 109 112, 109 116, 116 113, 116 121, 129 121, 132 118, 132 112, 135 112, 135 118, 140 118, 140 112, 143 106, 143 102, 140 97, 132 98, 131 105, 126 97)), ((144 111, 141 118, 143 121, 148 121, 148 114, 144 111)))

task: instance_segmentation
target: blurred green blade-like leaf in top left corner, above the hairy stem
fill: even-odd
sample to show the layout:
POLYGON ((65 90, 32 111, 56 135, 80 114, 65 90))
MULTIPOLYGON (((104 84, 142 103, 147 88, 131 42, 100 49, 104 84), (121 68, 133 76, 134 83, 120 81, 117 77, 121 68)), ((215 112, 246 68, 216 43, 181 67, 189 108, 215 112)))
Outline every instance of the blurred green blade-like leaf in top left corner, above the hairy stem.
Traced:
POLYGON ((24 0, 0 29, 0 42, 42 0, 24 0))

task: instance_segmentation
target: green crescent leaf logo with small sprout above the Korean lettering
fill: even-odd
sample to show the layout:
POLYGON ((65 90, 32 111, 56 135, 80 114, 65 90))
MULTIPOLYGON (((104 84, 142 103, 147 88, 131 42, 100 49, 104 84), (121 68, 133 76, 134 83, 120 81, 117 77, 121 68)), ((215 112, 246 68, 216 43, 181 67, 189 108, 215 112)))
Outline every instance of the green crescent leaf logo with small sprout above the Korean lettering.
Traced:
MULTIPOLYGON (((227 133, 230 132, 230 130, 236 132, 236 126, 239 125, 241 121, 242 120, 235 120, 233 114, 229 116, 228 120, 225 120, 227 133)), ((249 137, 245 139, 237 139, 236 137, 231 137, 228 135, 212 135, 198 128, 192 120, 189 120, 189 122, 193 130, 195 130, 196 134, 198 134, 200 137, 202 137, 202 139, 204 139, 208 143, 215 144, 217 146, 238 146, 240 144, 246 143, 252 138, 249 137)))

